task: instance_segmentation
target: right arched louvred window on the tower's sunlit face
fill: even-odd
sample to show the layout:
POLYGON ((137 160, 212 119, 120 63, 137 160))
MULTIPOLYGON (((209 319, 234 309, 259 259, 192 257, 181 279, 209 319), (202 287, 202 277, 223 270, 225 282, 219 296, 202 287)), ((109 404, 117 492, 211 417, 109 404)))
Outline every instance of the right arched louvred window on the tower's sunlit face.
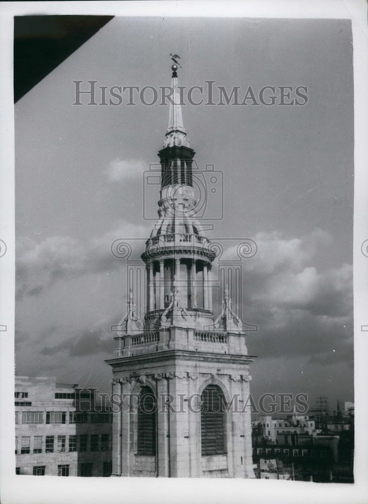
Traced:
POLYGON ((217 385, 209 385, 201 395, 202 455, 226 452, 225 398, 217 385))

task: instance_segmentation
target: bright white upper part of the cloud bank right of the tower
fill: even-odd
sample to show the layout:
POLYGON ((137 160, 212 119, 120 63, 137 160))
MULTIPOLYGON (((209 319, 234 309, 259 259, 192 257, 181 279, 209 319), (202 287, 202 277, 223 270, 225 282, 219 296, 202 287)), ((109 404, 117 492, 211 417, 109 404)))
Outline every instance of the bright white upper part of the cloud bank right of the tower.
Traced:
POLYGON ((258 252, 244 265, 252 298, 273 308, 345 316, 352 309, 352 265, 322 271, 316 266, 317 251, 330 241, 321 230, 288 240, 279 233, 258 233, 258 252))

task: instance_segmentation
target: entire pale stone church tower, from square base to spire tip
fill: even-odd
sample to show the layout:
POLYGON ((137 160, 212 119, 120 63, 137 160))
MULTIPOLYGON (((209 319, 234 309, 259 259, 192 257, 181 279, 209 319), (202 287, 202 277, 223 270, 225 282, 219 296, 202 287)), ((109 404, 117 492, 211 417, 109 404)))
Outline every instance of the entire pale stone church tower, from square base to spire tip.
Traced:
POLYGON ((183 125, 177 66, 163 148, 158 221, 146 265, 144 324, 130 292, 115 336, 114 476, 253 478, 245 333, 228 290, 217 319, 211 265, 216 253, 196 218, 195 176, 183 125))

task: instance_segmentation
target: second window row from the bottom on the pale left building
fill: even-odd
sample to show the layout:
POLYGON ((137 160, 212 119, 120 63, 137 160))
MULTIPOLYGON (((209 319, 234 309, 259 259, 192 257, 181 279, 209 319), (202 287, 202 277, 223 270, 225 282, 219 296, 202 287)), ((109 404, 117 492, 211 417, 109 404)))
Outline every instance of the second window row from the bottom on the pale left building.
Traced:
POLYGON ((31 436, 15 438, 15 453, 21 455, 30 453, 61 453, 61 452, 99 452, 111 450, 110 434, 81 434, 67 436, 33 436, 31 447, 31 436), (67 449, 68 447, 68 449, 67 449), (20 452, 19 452, 20 450, 20 452))

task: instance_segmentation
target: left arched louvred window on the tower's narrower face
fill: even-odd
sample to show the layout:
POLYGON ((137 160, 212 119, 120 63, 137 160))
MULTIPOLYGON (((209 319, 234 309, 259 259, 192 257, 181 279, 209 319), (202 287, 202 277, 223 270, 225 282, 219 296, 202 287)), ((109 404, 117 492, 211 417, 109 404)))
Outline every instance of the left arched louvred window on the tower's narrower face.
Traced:
POLYGON ((138 399, 137 453, 156 455, 157 401, 149 387, 142 387, 138 399))

